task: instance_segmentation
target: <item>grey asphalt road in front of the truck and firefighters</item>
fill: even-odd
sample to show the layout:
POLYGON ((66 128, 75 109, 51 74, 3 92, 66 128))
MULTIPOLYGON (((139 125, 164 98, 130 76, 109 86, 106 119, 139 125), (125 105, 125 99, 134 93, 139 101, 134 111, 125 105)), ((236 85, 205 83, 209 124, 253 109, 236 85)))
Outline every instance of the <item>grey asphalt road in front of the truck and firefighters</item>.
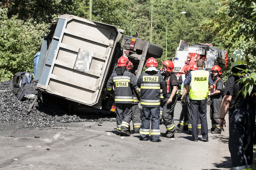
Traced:
MULTIPOLYGON (((181 105, 176 104, 178 124, 181 105)), ((211 128, 207 108, 208 129, 211 128)), ((228 115, 226 116, 228 121, 228 115)), ((222 134, 209 133, 209 142, 192 141, 186 133, 162 142, 139 141, 139 134, 116 135, 116 122, 65 123, 47 130, 17 129, 0 124, 0 169, 230 169, 228 122, 222 134), (64 124, 63 124, 64 125, 64 124), (34 138, 40 136, 40 138, 34 138), (49 148, 50 150, 46 150, 49 148)), ((165 126, 160 125, 161 133, 165 126)))

